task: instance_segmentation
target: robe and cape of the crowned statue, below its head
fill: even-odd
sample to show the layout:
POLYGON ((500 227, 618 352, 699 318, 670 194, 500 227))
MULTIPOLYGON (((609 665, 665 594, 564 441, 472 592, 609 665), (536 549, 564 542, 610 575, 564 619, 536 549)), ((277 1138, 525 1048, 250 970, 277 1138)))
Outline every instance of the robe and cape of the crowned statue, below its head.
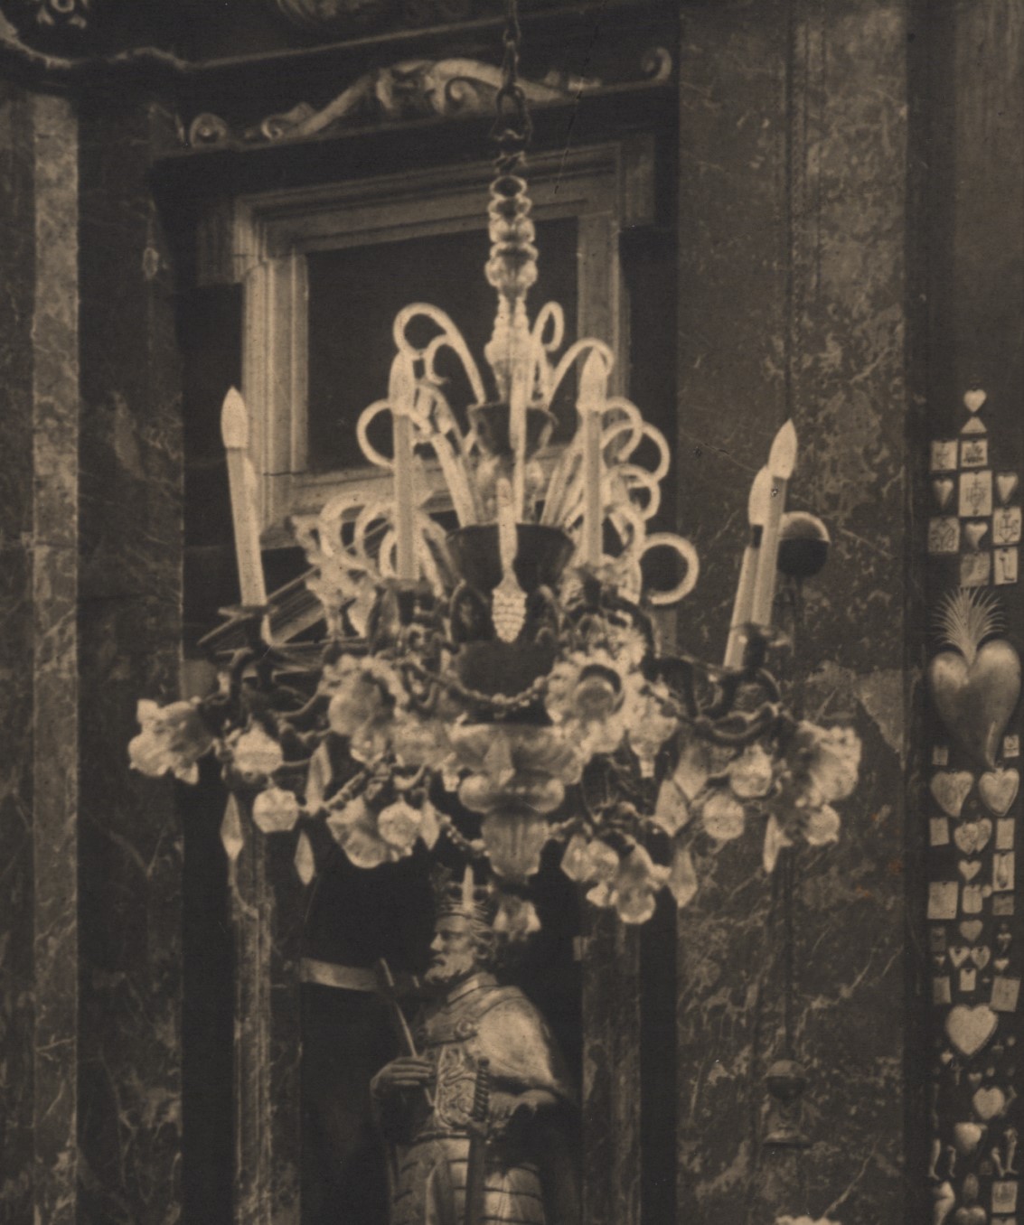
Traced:
POLYGON ((462 1225, 468 1123, 481 1057, 490 1061, 495 1105, 510 1105, 508 1096, 532 1090, 540 1090, 546 1102, 535 1116, 510 1127, 492 1121, 481 1225, 574 1225, 574 1171, 566 1136, 572 1094, 554 1039, 522 991, 475 974, 424 1016, 415 1036, 436 1072, 434 1107, 423 1091, 404 1091, 383 1104, 392 1225, 462 1225))

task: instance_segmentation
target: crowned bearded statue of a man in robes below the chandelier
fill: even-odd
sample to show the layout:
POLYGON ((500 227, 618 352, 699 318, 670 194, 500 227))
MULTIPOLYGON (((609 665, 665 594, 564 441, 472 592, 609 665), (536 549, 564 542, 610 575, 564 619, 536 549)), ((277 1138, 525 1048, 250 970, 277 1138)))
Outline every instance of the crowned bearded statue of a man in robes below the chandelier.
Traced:
POLYGON ((431 948, 416 1052, 372 1082, 392 1225, 578 1225, 561 1056, 522 991, 490 973, 495 935, 472 887, 443 894, 431 948))

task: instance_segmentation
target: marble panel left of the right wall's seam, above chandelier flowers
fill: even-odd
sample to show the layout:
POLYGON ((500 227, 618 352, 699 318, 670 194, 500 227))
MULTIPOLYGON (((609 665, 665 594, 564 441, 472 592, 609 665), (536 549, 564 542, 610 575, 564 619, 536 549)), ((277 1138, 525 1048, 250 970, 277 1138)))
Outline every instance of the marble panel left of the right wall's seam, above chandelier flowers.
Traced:
POLYGON ((701 578, 679 635, 702 655, 724 653, 750 485, 785 419, 784 28, 778 0, 682 11, 677 499, 701 578))

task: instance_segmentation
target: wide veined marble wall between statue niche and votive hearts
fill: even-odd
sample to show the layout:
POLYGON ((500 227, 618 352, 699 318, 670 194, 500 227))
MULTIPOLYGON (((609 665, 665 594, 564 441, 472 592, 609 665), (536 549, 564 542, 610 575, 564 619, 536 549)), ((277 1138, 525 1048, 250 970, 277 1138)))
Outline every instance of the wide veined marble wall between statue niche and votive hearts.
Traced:
POLYGON ((681 916, 679 1197, 695 1221, 905 1220, 906 33, 905 6, 876 0, 685 11, 680 502, 704 572, 680 638, 720 654, 747 491, 791 417, 788 506, 821 514, 833 545, 775 666, 808 717, 849 713, 865 744, 841 842, 794 862, 808 1149, 764 1144, 786 908, 757 837, 708 856, 681 916))

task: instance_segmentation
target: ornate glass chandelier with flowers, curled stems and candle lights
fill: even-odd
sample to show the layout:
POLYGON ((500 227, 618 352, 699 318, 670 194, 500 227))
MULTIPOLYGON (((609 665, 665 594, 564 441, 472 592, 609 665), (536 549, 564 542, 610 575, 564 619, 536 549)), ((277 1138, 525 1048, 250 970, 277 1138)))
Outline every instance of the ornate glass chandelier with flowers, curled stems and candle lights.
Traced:
POLYGON ((779 567, 812 573, 827 548, 817 519, 784 513, 791 423, 751 489, 723 663, 659 648, 652 606, 692 590, 697 554, 648 530, 670 452, 611 393, 611 349, 593 338, 566 347, 556 303, 528 312, 539 256, 518 50, 513 9, 492 134, 485 271, 497 310, 485 366, 442 310, 398 314, 387 397, 358 424, 363 453, 391 474, 390 495, 360 503, 343 491, 296 527, 325 615, 312 652, 269 633, 246 410, 229 393, 233 617, 247 646, 219 660, 209 696, 141 702, 130 746, 137 769, 189 782, 216 756, 232 793, 222 826, 232 866, 250 826, 294 838, 305 883, 317 823, 367 871, 418 848, 454 856, 490 882, 496 927, 512 938, 538 927, 530 880, 545 854, 589 903, 644 922, 664 889, 686 905, 706 860, 751 827, 768 871, 796 839, 834 842, 833 805, 851 794, 860 762, 850 730, 796 718, 764 668, 779 567), (442 354, 464 371, 470 403, 450 399, 442 354), (573 383, 576 431, 557 448, 551 407, 573 383), (371 440, 385 418, 391 454, 371 440), (427 508, 435 470, 453 528, 427 508), (670 590, 644 583, 655 549, 681 571, 670 590))

